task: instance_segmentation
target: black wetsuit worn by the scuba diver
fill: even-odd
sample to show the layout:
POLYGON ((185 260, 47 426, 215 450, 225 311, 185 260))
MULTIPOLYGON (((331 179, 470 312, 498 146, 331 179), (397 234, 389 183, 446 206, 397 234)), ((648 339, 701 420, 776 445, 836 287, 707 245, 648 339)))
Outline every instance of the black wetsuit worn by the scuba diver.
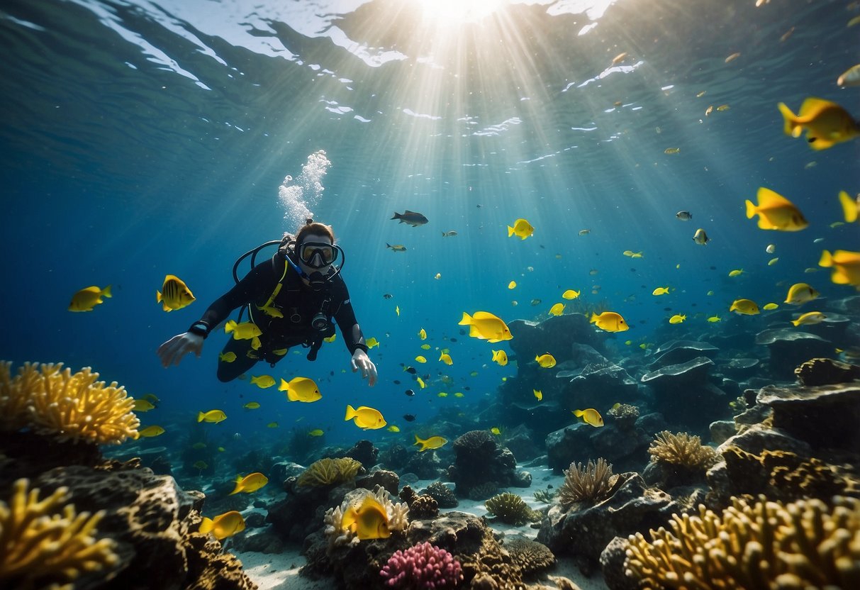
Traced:
POLYGON ((357 348, 367 352, 364 336, 355 320, 353 304, 349 301, 347 284, 341 275, 336 274, 321 291, 314 291, 304 284, 292 266, 286 267, 285 274, 285 265, 286 261, 279 255, 258 264, 229 292, 212 303, 200 318, 200 322, 214 328, 232 310, 248 304, 249 319, 262 331, 262 346, 258 350, 251 347, 250 339, 236 340, 230 336, 222 353, 235 353, 236 360, 225 362, 219 358, 218 380, 231 381, 248 371, 258 360, 274 364, 284 358, 287 348, 299 344, 310 347, 309 359, 314 360, 322 338, 335 334, 335 327, 330 323, 332 317, 341 329, 349 353, 354 353, 357 348), (273 317, 261 310, 261 306, 267 304, 279 283, 283 286, 270 307, 279 310, 283 317, 273 317), (329 322, 325 329, 316 330, 310 322, 320 312, 329 322))

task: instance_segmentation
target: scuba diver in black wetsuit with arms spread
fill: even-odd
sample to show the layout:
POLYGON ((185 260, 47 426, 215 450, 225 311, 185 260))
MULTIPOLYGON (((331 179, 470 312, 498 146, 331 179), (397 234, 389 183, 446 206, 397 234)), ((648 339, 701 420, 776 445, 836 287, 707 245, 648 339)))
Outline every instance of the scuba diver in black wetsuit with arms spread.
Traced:
MULTIPOLYGON (((236 286, 215 300, 203 317, 187 332, 175 335, 158 347, 158 357, 165 368, 178 365, 181 358, 194 352, 198 358, 206 336, 222 323, 232 310, 247 305, 253 325, 228 323, 228 329, 259 331, 259 336, 237 339, 235 333, 218 355, 218 380, 232 381, 248 371, 257 361, 274 366, 290 347, 309 349, 308 360, 316 360, 322 339, 335 335, 334 317, 343 340, 353 355, 353 372, 361 371, 371 387, 377 382, 377 369, 367 356, 367 345, 349 301, 347 285, 341 278, 345 255, 335 245, 335 233, 326 224, 308 219, 295 237, 285 234, 278 252, 270 261, 254 265, 255 255, 267 242, 244 254, 233 267, 236 286), (251 255, 251 271, 238 280, 237 267, 251 255), (335 261, 340 256, 339 267, 335 261)), ((241 319, 240 312, 240 319, 241 319)))

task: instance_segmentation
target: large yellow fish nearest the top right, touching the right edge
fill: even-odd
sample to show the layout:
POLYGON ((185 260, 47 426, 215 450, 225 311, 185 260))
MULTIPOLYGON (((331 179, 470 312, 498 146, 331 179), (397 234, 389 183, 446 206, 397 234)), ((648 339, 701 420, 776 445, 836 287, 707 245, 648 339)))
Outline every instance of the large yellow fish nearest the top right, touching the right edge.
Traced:
POLYGON ((806 129, 807 141, 813 150, 826 150, 860 135, 857 121, 835 102, 810 96, 803 101, 800 114, 792 113, 784 102, 777 107, 785 120, 785 134, 798 138, 806 129))

